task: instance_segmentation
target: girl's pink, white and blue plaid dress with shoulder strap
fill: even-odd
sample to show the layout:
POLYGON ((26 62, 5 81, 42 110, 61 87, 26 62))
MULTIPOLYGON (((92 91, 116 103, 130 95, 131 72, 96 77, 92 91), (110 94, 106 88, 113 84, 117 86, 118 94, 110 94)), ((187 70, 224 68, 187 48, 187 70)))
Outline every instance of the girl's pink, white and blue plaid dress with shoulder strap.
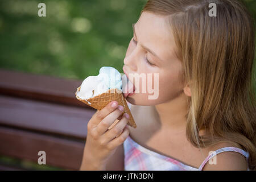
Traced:
MULTIPOLYGON (((201 171, 208 160, 212 159, 213 156, 226 151, 238 152, 245 156, 246 160, 249 158, 249 153, 240 148, 224 147, 212 152, 207 156, 199 168, 195 168, 148 150, 136 143, 130 136, 128 136, 123 143, 123 149, 125 153, 126 171, 201 171)), ((247 170, 249 170, 249 168, 247 170)))

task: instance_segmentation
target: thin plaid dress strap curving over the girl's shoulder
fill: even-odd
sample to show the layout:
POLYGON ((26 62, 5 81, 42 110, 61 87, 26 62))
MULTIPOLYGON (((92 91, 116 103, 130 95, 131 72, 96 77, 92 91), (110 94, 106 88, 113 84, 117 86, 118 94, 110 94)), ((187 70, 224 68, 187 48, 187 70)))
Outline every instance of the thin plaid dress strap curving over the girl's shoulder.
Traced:
POLYGON ((223 147, 220 148, 214 152, 212 152, 210 155, 207 156, 207 158, 204 160, 204 162, 201 164, 201 166, 199 167, 199 171, 201 171, 203 169, 203 167, 205 166, 205 164, 213 158, 213 156, 216 156, 217 154, 220 154, 222 152, 238 152, 240 154, 242 154, 243 156, 245 156, 246 160, 248 160, 249 158, 249 153, 242 150, 241 148, 237 148, 237 147, 223 147))

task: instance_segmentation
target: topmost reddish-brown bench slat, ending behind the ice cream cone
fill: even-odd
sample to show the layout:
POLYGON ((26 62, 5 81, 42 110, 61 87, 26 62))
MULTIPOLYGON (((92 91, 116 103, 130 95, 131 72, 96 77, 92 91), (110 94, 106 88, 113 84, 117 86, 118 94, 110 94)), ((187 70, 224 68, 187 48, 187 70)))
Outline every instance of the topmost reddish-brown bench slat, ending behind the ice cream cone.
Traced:
POLYGON ((75 97, 81 80, 0 69, 0 94, 92 109, 75 97))

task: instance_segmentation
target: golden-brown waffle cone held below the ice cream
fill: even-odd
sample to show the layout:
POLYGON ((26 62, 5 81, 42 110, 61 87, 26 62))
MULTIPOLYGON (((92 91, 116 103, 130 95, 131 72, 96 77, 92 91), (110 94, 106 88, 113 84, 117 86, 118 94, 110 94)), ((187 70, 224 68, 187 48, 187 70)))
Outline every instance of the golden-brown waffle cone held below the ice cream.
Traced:
POLYGON ((131 115, 131 111, 129 109, 129 107, 127 106, 127 102, 125 100, 125 97, 123 97, 123 94, 121 92, 121 90, 118 89, 109 89, 107 92, 102 93, 98 96, 89 98, 88 100, 83 100, 80 97, 77 96, 77 93, 80 91, 81 86, 79 86, 79 88, 77 88, 76 91, 76 98, 77 100, 84 102, 84 104, 93 107, 94 109, 97 110, 101 110, 103 109, 106 105, 109 104, 109 102, 111 101, 117 101, 118 105, 123 106, 123 113, 127 113, 129 114, 129 121, 128 121, 128 125, 132 126, 134 128, 136 128, 136 123, 133 119, 133 115, 131 115))

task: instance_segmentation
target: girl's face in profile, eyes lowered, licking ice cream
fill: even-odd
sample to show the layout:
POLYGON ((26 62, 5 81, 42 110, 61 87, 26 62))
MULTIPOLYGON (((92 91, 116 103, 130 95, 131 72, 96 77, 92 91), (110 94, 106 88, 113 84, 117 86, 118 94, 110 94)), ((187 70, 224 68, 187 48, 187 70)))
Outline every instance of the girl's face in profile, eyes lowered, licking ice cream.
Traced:
POLYGON ((158 105, 173 100, 183 92, 183 67, 174 53, 175 43, 167 16, 159 16, 143 12, 138 22, 134 24, 134 35, 126 51, 123 61, 123 71, 135 85, 135 93, 127 96, 126 100, 134 105, 158 105), (152 86, 146 82, 146 93, 142 93, 142 79, 138 86, 131 75, 146 75, 152 78, 152 86), (147 75, 152 73, 152 76, 147 75), (154 77, 159 74, 159 78, 154 77), (156 84, 158 82, 158 84, 156 84), (155 86, 154 86, 155 85, 155 86), (154 93, 148 92, 148 87, 154 93), (150 100, 148 96, 153 96, 150 100))

